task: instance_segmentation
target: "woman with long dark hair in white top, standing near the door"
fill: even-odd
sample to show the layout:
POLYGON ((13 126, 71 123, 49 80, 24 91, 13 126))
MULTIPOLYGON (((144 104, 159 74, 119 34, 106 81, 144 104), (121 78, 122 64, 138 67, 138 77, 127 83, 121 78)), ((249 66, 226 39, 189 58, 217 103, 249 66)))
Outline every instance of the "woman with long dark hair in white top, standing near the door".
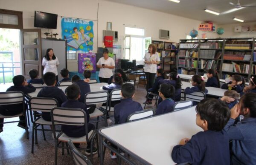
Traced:
POLYGON ((59 65, 58 58, 54 55, 53 49, 48 48, 46 54, 42 60, 42 66, 44 67, 43 74, 46 72, 52 72, 56 75, 56 81, 58 82, 58 71, 57 67, 59 65))

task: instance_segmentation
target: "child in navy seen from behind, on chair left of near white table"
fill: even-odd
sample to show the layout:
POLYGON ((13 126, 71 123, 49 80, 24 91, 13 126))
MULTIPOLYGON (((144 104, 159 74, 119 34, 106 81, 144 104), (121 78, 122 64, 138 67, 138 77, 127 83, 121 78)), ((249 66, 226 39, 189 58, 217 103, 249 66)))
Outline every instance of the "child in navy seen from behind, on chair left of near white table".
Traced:
MULTIPOLYGON (((61 104, 61 107, 64 108, 81 108, 87 114, 87 128, 88 133, 91 130, 94 130, 94 125, 89 123, 90 115, 86 108, 86 105, 82 102, 79 102, 78 99, 80 97, 80 88, 76 84, 72 84, 67 87, 67 98, 68 100, 61 104)), ((85 136, 85 125, 61 125, 61 131, 64 132, 68 137, 83 137, 85 136)), ((79 145, 76 145, 78 147, 79 145)), ((87 143, 86 154, 90 154, 90 142, 87 143)), ((97 148, 93 148, 93 154, 97 153, 97 148)))

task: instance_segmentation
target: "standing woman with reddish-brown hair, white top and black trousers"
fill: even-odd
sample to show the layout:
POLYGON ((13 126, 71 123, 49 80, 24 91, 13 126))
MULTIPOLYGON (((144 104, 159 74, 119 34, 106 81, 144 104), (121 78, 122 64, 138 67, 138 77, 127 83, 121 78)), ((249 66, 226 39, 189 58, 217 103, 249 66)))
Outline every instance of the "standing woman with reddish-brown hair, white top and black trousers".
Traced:
POLYGON ((150 44, 148 46, 148 52, 145 54, 144 58, 145 60, 145 75, 147 80, 147 86, 146 89, 148 91, 149 88, 152 88, 154 84, 154 77, 157 72, 157 64, 160 63, 160 58, 157 53, 157 48, 154 44, 150 44))

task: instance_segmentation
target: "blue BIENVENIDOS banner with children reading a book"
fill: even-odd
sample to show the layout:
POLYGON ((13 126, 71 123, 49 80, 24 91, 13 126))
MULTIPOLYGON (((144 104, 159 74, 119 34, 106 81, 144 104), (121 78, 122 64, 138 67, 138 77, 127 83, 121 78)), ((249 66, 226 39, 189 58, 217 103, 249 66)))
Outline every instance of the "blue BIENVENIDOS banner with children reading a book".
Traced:
POLYGON ((93 21, 63 17, 61 31, 62 39, 67 40, 67 50, 93 50, 93 21))

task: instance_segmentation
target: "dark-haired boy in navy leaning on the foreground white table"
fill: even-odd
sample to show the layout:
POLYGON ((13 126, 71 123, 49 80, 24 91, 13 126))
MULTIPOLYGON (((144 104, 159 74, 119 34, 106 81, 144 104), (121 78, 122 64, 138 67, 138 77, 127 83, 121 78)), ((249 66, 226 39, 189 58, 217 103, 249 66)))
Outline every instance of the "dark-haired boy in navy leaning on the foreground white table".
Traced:
POLYGON ((196 125, 204 131, 191 139, 181 139, 179 145, 172 149, 172 160, 193 165, 229 165, 229 139, 222 130, 230 118, 227 105, 220 100, 206 98, 195 109, 196 125))

